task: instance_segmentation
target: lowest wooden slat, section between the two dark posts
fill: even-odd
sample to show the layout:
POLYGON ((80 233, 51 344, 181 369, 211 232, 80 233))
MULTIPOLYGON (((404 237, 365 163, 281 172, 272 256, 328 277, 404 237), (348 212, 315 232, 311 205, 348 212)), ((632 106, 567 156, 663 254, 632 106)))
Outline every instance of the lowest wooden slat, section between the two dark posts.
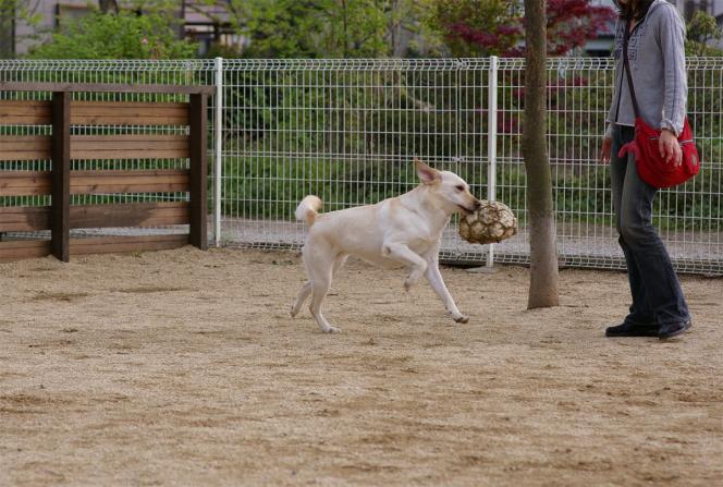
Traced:
POLYGON ((71 239, 71 255, 164 251, 184 245, 188 245, 187 234, 71 239))

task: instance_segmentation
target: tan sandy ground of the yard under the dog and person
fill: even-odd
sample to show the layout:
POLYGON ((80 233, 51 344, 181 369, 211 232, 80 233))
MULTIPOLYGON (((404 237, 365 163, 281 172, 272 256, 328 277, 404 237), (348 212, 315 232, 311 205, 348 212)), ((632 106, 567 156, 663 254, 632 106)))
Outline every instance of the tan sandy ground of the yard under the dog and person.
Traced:
POLYGON ((0 265, 0 485, 723 485, 723 280, 694 329, 617 339, 617 272, 426 283, 351 263, 305 309, 298 255, 238 249, 0 265))

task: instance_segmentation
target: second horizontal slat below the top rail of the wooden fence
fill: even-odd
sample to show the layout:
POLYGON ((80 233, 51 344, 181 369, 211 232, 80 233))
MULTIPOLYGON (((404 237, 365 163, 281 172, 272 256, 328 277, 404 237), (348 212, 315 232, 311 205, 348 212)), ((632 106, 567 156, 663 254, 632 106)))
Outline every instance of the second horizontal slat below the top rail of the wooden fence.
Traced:
MULTIPOLYGON (((185 135, 74 135, 71 159, 185 159, 188 137, 185 135)), ((2 135, 0 160, 48 160, 50 136, 2 135)))

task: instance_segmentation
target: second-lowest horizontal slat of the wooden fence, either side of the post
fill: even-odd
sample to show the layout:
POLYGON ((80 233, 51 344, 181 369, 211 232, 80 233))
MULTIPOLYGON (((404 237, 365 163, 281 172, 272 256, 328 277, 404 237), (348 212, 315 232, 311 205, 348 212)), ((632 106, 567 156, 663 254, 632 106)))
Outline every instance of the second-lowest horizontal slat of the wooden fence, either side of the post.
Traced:
MULTIPOLYGON (((123 205, 73 205, 70 228, 161 227, 186 224, 188 203, 132 203, 123 205)), ((50 207, 0 207, 0 232, 30 232, 50 229, 50 207)))

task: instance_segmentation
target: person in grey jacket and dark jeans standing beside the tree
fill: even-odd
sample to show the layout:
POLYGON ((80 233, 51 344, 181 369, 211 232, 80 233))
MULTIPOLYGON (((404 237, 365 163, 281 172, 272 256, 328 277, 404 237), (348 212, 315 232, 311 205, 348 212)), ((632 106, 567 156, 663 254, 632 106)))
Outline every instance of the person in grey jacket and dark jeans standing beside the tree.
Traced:
POLYGON ((640 117, 662 130, 659 150, 666 163, 681 165, 677 135, 685 119, 687 81, 685 24, 665 0, 613 0, 615 24, 615 87, 600 158, 610 162, 615 222, 625 255, 633 304, 623 322, 606 337, 676 337, 690 328, 688 306, 665 246, 652 224, 658 190, 644 182, 634 156, 618 157, 635 137, 635 112, 626 83, 624 48, 640 117))

